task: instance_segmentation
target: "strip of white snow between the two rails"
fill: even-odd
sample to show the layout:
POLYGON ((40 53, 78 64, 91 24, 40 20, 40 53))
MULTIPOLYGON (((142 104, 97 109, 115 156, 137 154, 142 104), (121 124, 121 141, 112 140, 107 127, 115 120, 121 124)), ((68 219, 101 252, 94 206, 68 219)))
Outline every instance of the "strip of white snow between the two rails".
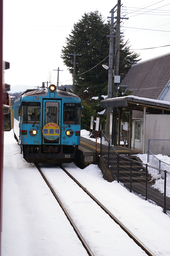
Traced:
MULTIPOLYGON (((72 167, 71 169, 75 169, 76 173, 80 172, 80 169, 75 164, 63 164, 63 166, 66 166, 66 169, 72 167)), ((95 169, 95 182, 98 175, 99 178, 102 177, 101 170, 99 170, 98 166, 91 167, 95 169)), ((114 252, 116 255, 121 256, 126 255, 127 251, 130 252, 131 256, 143 255, 141 248, 136 246, 132 239, 123 232, 109 215, 79 188, 65 172, 59 167, 56 170, 56 167, 53 166, 51 168, 47 166, 43 168, 41 166, 41 170, 61 198, 63 205, 71 215, 71 218, 73 218, 87 244, 93 250, 94 255, 112 255, 114 252), (65 189, 66 186, 67 189, 65 189)))

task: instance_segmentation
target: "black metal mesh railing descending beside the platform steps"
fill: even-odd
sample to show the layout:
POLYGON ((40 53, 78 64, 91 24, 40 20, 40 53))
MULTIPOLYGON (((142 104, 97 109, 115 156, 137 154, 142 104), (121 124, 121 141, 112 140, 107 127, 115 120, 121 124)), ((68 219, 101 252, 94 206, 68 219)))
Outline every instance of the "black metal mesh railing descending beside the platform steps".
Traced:
POLYGON ((134 156, 119 155, 103 131, 101 157, 114 180, 130 192, 161 206, 164 213, 170 213, 170 172, 136 161, 134 156))

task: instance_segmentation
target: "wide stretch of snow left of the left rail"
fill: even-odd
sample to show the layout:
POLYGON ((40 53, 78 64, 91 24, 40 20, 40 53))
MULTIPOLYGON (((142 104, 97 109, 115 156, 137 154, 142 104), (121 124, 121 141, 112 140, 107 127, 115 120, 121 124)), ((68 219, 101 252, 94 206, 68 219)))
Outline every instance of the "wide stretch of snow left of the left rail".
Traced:
POLYGON ((2 256, 87 256, 34 164, 4 133, 2 256), (62 242, 61 242, 62 241, 62 242))

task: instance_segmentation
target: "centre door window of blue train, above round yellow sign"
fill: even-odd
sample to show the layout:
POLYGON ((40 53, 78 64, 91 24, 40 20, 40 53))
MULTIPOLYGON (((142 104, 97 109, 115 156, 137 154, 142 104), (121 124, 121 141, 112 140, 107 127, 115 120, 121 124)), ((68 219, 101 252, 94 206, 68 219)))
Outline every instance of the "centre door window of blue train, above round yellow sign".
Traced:
POLYGON ((46 102, 45 124, 53 122, 58 124, 58 102, 46 102))

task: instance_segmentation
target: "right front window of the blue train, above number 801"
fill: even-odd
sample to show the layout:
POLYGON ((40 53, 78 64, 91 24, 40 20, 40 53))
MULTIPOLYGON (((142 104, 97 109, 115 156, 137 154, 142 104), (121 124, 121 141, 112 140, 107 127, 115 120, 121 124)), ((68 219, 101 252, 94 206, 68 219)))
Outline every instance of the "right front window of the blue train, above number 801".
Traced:
POLYGON ((64 103, 63 124, 80 124, 80 103, 64 103))

